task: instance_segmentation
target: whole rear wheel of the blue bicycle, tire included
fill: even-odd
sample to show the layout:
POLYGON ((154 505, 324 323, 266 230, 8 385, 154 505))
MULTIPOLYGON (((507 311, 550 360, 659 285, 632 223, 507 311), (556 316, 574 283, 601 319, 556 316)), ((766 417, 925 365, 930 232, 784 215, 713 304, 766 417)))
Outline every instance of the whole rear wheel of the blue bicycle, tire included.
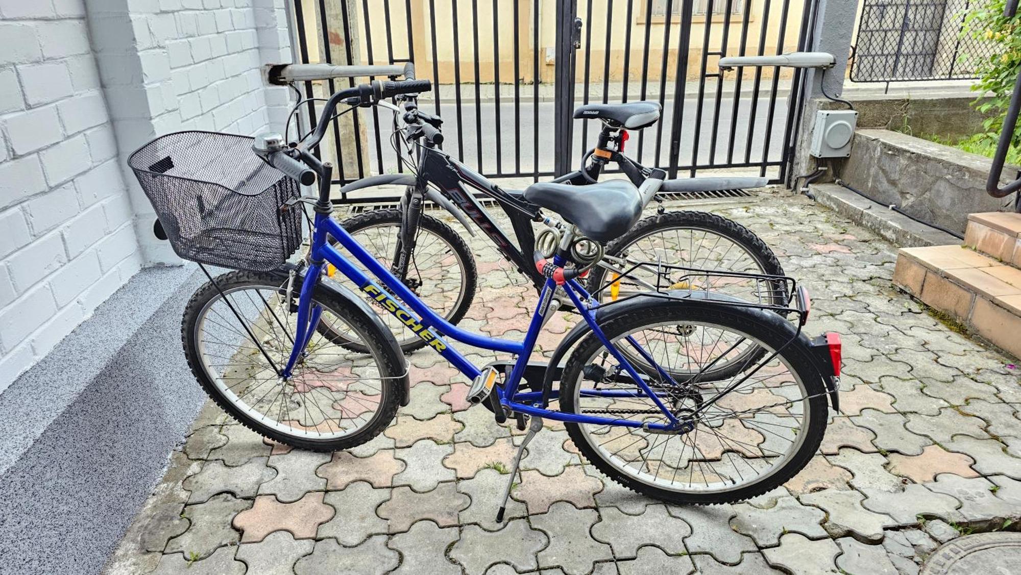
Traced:
MULTIPOLYGON (((825 384, 808 339, 776 314, 673 302, 624 314, 600 327, 624 357, 639 353, 640 347, 657 365, 682 366, 689 373, 728 353, 729 346, 717 344, 721 341, 746 339, 766 352, 730 378, 693 376, 675 379, 676 385, 654 366, 632 364, 675 417, 693 424, 690 431, 567 423, 582 455, 625 487, 679 504, 741 501, 783 484, 819 448, 828 411, 825 384), (677 325, 685 329, 674 329, 677 325)), ((565 367, 561 409, 622 421, 667 422, 654 401, 622 373, 626 371, 614 355, 589 334, 565 367)))

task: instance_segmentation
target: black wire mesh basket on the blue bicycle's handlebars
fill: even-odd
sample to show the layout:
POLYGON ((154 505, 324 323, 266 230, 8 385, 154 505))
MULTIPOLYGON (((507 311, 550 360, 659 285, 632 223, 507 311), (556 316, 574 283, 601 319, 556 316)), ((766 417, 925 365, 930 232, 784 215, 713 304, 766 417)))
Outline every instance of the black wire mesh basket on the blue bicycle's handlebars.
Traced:
POLYGON ((298 182, 263 162, 252 138, 178 132, 128 159, 174 251, 183 259, 268 271, 301 244, 298 182))

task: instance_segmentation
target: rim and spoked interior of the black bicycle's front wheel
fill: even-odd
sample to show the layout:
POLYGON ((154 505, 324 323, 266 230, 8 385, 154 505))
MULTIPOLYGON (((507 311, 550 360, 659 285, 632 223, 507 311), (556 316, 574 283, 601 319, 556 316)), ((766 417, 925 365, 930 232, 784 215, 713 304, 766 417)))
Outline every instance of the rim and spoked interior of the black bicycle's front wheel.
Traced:
MULTIPOLYGON (((375 255, 376 261, 383 267, 390 269, 399 231, 399 224, 378 223, 359 228, 353 231, 351 237, 369 253, 375 255)), ((469 277, 466 272, 468 266, 461 260, 460 254, 441 236, 420 226, 411 256, 407 278, 420 282, 420 286, 415 290, 419 298, 429 304, 429 307, 441 317, 451 320, 468 292, 469 277)), ((367 271, 356 260, 352 259, 351 263, 367 271)), ((401 347, 421 342, 417 335, 407 331, 399 319, 382 308, 375 309, 401 347)), ((336 329, 333 325, 329 328, 341 337, 347 337, 342 330, 336 329)))

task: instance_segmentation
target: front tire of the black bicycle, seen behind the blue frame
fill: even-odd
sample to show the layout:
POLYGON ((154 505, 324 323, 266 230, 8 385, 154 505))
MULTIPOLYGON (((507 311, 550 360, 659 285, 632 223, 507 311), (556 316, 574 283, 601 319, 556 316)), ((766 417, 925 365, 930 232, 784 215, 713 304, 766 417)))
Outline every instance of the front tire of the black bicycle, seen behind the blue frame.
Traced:
MULTIPOLYGON (((401 221, 402 217, 399 209, 387 208, 373 210, 363 214, 352 216, 340 222, 340 225, 353 236, 356 232, 370 227, 395 226, 399 230, 401 221)), ((461 289, 457 300, 455 300, 454 306, 447 312, 447 314, 444 315, 444 319, 456 325, 457 322, 464 319, 465 314, 467 314, 468 310, 472 307, 472 302, 475 301, 475 293, 478 289, 479 281, 478 268, 475 264, 475 256, 472 255, 472 251, 469 249, 465 240, 449 225, 439 219, 428 214, 422 214, 421 219, 419 220, 419 225, 421 228, 428 230, 445 242, 453 251, 457 260, 461 263, 461 273, 464 274, 461 289)), ((386 256, 389 258, 390 254, 387 254, 386 256)), ((400 279, 404 280, 405 278, 401 277, 400 279)), ((387 318, 390 316, 384 315, 383 317, 384 323, 386 323, 387 318)), ((397 343, 400 345, 401 351, 405 354, 409 354, 426 347, 427 343, 425 341, 415 334, 408 334, 408 332, 399 325, 392 325, 391 327, 394 327, 394 336, 397 338, 397 343)), ((338 344, 343 339, 343 336, 338 333, 329 333, 329 327, 325 325, 321 325, 319 329, 321 329, 322 333, 330 336, 338 344)), ((348 347, 352 350, 359 351, 357 344, 351 344, 348 345, 348 347)))

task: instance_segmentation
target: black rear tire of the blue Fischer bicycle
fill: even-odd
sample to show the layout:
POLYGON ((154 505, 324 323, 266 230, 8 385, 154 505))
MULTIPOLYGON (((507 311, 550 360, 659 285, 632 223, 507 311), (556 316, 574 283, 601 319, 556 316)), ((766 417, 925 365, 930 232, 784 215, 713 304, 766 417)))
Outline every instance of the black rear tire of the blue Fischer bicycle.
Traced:
MULTIPOLYGON (((739 332, 753 330, 756 331, 753 336, 773 350, 781 349, 795 333, 795 328, 792 324, 776 314, 763 310, 735 308, 725 305, 673 305, 669 303, 662 303, 653 308, 646 307, 635 310, 615 318, 607 322, 606 325, 601 326, 601 328, 607 339, 613 342, 622 334, 633 332, 635 328, 663 321, 699 321, 724 326, 739 332)), ((576 403, 576 391, 582 380, 583 369, 586 367, 585 362, 588 361, 588 358, 598 353, 600 349, 602 349, 601 342, 594 333, 590 333, 578 345, 578 348, 569 358, 560 385, 560 405, 564 412, 579 413, 579 406, 576 403)), ((825 433, 828 418, 826 386, 818 368, 812 361, 809 342, 805 334, 798 333, 793 342, 786 348, 783 348, 780 357, 783 358, 792 372, 797 374, 807 391, 807 413, 810 419, 805 440, 782 467, 758 481, 732 491, 678 493, 677 491, 664 489, 640 481, 631 475, 621 472, 611 462, 606 461, 589 443, 586 433, 582 430, 582 424, 565 423, 565 427, 574 445, 589 463, 617 483, 633 491, 676 504, 709 505, 747 500, 782 485, 804 469, 819 449, 825 433)))

